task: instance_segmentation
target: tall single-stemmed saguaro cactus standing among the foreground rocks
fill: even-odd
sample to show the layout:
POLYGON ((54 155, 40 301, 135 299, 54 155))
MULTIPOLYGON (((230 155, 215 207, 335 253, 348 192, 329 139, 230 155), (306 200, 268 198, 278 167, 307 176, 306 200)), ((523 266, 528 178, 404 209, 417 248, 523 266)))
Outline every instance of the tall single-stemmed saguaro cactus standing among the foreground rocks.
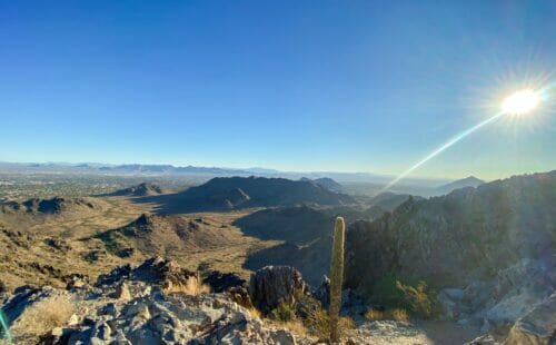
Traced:
POLYGON ((344 280, 344 238, 346 225, 342 217, 336 218, 334 227, 332 257, 330 264, 330 342, 339 343, 338 329, 341 306, 341 284, 344 280))

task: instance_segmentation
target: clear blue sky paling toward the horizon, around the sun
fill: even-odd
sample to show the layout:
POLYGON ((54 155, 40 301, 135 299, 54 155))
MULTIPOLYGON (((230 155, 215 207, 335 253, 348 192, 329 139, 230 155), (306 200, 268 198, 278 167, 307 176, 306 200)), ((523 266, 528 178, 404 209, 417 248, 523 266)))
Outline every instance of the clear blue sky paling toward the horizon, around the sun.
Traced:
MULTIPOLYGON (((0 161, 396 175, 555 72, 549 0, 0 0, 0 161)), ((556 169, 549 103, 411 176, 556 169)))

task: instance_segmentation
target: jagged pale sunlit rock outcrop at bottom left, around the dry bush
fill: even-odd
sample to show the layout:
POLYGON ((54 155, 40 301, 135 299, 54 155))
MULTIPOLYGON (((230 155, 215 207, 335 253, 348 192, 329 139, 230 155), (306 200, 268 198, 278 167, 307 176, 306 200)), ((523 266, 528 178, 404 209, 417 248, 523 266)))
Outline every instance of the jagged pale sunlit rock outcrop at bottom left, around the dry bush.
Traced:
POLYGON ((42 336, 18 332, 16 344, 311 343, 266 324, 229 294, 189 295, 165 288, 165 282, 182 282, 183 276, 189 274, 171 262, 153 258, 136 268, 115 269, 96 287, 72 292, 20 288, 2 309, 10 325, 18 327, 38 303, 59 295, 75 302, 71 317, 58 319, 59 324, 42 336))

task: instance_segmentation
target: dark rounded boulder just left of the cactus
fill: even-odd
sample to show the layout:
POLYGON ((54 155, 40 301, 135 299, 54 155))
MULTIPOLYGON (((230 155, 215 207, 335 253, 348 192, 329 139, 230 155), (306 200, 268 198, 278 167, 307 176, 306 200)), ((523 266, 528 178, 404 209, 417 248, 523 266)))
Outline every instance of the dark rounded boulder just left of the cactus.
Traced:
POLYGON ((251 302, 265 315, 280 303, 294 304, 306 288, 301 274, 289 266, 264 267, 249 282, 251 302))

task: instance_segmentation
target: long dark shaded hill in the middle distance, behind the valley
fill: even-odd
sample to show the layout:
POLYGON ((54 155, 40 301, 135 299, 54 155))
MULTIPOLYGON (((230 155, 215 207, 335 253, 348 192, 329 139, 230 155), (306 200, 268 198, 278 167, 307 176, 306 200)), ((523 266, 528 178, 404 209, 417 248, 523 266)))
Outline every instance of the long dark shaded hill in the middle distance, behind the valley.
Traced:
POLYGON ((355 203, 351 197, 330 191, 312 181, 265 177, 219 177, 182 193, 147 197, 138 201, 160 204, 161 214, 355 203))

